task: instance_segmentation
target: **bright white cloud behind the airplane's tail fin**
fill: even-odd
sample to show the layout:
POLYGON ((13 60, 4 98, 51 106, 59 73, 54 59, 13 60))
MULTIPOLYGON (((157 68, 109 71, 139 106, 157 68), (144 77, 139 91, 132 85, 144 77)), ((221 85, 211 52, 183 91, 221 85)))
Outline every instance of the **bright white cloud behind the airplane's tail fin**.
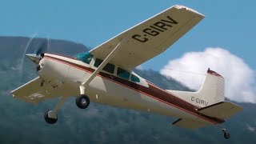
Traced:
POLYGON ((225 78, 227 98, 238 102, 256 103, 254 70, 251 70, 242 58, 222 48, 206 48, 202 52, 188 52, 182 58, 171 60, 160 70, 160 73, 198 90, 205 76, 174 70, 206 74, 209 67, 210 70, 218 72, 225 78))

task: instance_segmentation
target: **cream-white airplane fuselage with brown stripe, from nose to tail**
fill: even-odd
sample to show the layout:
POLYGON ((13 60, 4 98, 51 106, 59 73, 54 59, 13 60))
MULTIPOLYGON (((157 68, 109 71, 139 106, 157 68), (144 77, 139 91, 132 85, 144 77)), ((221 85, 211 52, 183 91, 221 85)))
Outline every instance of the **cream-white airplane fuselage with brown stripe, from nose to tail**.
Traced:
MULTIPOLYGON (((41 70, 38 71, 38 75, 45 82, 63 87, 67 90, 66 96, 78 96, 79 85, 95 70, 94 59, 90 64, 86 64, 75 58, 44 54, 39 62, 41 70)), ((197 113, 196 109, 200 107, 183 101, 143 78, 140 78, 140 82, 131 82, 118 78, 115 74, 101 72, 90 82, 85 92, 91 102, 218 124, 215 120, 197 113)))

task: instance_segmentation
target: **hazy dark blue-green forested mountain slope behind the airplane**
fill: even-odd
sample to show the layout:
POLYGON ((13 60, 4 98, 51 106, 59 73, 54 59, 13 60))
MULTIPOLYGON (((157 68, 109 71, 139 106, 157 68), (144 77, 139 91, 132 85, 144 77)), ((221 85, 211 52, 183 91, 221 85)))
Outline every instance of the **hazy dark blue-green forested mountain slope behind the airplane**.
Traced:
MULTIPOLYGON (((10 90, 34 78, 34 66, 24 61, 22 79, 20 63, 29 38, 0 37, 0 143, 254 143, 256 138, 256 105, 238 103, 242 113, 230 118, 224 126, 210 126, 199 130, 185 130, 172 126, 177 118, 112 106, 91 103, 80 110, 74 98, 65 102, 58 113, 56 125, 44 121, 46 110, 53 109, 58 99, 37 106, 18 101, 10 90), (229 140, 223 138, 220 128, 230 131, 229 140)), ((42 39, 38 39, 42 42, 42 39)), ((36 42, 34 42, 36 45, 36 42)), ((50 50, 74 55, 88 50, 74 42, 52 40, 50 50), (55 43, 55 44, 54 44, 55 43)), ((31 48, 30 52, 33 52, 31 48)), ((189 90, 186 86, 166 79, 154 70, 136 70, 143 78, 164 89, 189 90)))

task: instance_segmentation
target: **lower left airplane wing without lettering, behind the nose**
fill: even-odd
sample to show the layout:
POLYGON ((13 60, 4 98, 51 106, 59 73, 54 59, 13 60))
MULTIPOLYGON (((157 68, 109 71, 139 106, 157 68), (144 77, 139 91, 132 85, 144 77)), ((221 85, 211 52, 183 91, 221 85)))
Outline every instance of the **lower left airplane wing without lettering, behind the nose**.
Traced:
POLYGON ((14 98, 21 99, 25 102, 38 103, 48 98, 63 96, 67 90, 63 90, 62 82, 44 82, 41 78, 34 78, 16 90, 11 91, 14 98))

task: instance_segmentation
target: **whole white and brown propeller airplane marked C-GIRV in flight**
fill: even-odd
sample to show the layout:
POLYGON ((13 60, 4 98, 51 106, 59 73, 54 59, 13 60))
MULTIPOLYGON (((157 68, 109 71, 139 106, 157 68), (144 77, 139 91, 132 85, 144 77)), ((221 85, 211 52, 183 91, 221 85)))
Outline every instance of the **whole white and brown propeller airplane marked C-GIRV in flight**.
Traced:
MULTIPOLYGON (((224 97, 224 78, 208 70, 197 92, 162 90, 132 70, 167 50, 204 16, 185 6, 162 13, 118 34, 74 58, 58 54, 26 54, 37 65, 38 78, 11 93, 14 98, 38 103, 60 97, 46 122, 57 122, 57 112, 70 96, 86 109, 90 102, 150 111, 177 117, 175 126, 196 129, 218 125, 242 110, 224 97)), ((225 138, 230 134, 223 130, 225 138)))

